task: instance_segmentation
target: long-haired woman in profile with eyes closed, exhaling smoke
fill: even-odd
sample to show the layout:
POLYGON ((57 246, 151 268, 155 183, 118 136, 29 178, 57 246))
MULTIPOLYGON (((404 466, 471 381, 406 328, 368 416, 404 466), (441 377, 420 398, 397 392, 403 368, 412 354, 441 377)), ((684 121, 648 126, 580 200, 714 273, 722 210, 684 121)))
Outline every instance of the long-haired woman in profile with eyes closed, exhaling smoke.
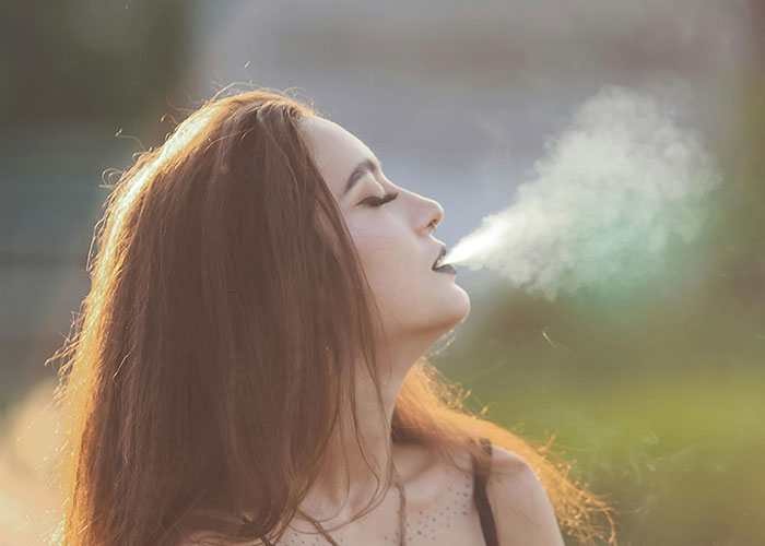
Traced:
POLYGON ((598 512, 614 542, 569 465, 428 363, 470 311, 433 270, 443 209, 342 127, 219 94, 109 188, 55 355, 62 544, 552 546, 598 512))

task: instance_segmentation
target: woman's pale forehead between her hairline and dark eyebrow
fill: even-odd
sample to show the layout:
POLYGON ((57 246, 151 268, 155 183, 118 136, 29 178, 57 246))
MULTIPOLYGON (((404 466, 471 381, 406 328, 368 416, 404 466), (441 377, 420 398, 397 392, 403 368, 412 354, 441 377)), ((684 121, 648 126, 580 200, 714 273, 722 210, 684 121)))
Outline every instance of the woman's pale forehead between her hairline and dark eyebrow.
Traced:
POLYGON ((356 165, 375 157, 366 144, 332 121, 313 116, 301 119, 298 127, 316 167, 336 197, 342 193, 356 165))

